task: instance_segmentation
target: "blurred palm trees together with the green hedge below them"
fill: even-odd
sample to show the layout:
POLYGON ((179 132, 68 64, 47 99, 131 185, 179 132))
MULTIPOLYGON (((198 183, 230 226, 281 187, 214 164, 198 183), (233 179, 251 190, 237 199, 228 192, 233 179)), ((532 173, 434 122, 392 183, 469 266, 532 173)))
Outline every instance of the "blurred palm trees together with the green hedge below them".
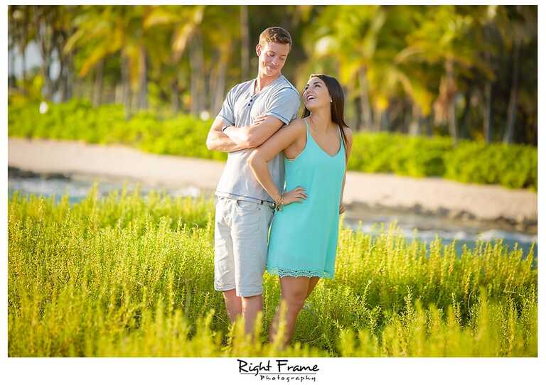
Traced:
POLYGON ((343 85, 351 169, 536 190, 537 6, 9 6, 9 135, 223 160, 210 121, 268 26, 296 87, 343 85))

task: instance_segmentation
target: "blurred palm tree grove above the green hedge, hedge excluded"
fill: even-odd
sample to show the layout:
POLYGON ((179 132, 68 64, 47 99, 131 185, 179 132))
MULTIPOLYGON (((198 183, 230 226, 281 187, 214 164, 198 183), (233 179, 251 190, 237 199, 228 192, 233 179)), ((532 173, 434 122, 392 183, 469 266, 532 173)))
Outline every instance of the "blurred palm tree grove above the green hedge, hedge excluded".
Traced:
POLYGON ((357 131, 537 143, 537 6, 9 6, 11 60, 41 54, 10 77, 10 102, 207 119, 255 75, 268 26, 291 33, 283 72, 299 89, 338 77, 357 131))

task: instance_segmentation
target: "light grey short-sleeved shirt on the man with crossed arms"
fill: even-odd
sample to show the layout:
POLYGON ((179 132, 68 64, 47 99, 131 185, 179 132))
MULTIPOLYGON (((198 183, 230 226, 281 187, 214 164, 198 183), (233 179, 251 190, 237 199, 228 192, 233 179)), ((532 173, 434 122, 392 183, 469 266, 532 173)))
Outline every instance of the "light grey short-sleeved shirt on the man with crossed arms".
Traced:
MULTIPOLYGON (((235 85, 228 92, 218 116, 235 127, 251 125, 263 114, 274 116, 284 124, 296 119, 300 104, 299 93, 286 77, 280 75, 257 94, 254 94, 255 81, 249 80, 235 85)), ((247 165, 247 159, 253 150, 254 148, 247 148, 228 153, 228 161, 225 163, 215 195, 273 202, 247 165)), ((278 153, 267 163, 273 182, 281 192, 284 187, 283 157, 282 152, 278 153)))

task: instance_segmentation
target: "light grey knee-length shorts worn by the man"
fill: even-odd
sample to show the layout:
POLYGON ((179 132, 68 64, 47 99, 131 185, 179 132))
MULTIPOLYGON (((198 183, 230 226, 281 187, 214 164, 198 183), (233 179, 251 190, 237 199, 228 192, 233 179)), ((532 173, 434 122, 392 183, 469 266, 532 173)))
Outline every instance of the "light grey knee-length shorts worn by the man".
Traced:
POLYGON ((272 207, 218 197, 214 220, 214 288, 235 288, 239 297, 259 295, 267 259, 272 207))

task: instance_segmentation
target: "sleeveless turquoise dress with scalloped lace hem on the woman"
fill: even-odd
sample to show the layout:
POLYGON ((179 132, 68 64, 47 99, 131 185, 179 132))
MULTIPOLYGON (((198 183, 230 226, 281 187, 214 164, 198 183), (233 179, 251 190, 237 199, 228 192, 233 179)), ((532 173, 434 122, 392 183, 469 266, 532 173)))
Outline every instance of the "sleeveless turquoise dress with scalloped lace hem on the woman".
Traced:
POLYGON ((333 278, 338 244, 339 203, 345 175, 343 139, 338 153, 328 155, 307 127, 305 148, 294 159, 284 158, 284 190, 301 186, 307 199, 275 212, 269 234, 267 271, 279 276, 333 278))

